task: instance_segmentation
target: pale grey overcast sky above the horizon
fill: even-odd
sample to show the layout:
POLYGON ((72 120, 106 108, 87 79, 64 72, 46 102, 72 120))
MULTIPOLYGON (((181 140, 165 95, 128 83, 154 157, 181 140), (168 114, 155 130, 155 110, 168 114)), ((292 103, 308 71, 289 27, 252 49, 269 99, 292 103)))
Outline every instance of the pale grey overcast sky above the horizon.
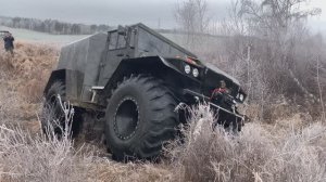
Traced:
MULTIPOLYGON (((85 24, 127 25, 142 22, 152 28, 175 28, 173 11, 180 0, 7 0, 0 15, 55 18, 85 24)), ((311 6, 324 9, 310 24, 326 31, 326 0, 312 0, 311 6)), ((210 16, 223 20, 230 0, 208 0, 210 16)))

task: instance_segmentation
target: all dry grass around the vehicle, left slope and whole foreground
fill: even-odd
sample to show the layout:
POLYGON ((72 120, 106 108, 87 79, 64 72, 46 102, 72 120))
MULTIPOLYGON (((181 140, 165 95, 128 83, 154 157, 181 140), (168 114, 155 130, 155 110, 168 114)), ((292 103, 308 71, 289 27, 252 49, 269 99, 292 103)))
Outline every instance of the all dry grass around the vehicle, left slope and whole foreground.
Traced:
MULTIPOLYGON (((117 164, 96 155, 99 147, 91 144, 76 147, 68 135, 47 139, 36 113, 58 51, 16 48, 14 58, 0 54, 0 181, 326 180, 325 123, 288 105, 267 110, 273 125, 253 120, 236 136, 212 131, 213 115, 201 105, 160 164, 117 164)), ((248 114, 256 116, 256 109, 251 105, 248 114)))

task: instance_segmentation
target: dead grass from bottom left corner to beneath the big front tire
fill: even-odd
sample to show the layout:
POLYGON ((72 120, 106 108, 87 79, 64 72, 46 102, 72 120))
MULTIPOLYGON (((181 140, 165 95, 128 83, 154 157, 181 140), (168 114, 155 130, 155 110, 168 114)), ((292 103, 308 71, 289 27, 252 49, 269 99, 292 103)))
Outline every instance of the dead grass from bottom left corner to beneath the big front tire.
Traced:
POLYGON ((164 165, 118 164, 97 156, 97 147, 89 144, 76 147, 71 138, 74 110, 65 103, 62 109, 64 127, 50 110, 43 112, 48 115, 41 117, 42 122, 50 123, 45 125, 45 133, 32 133, 17 123, 0 125, 0 181, 172 181, 164 165))

